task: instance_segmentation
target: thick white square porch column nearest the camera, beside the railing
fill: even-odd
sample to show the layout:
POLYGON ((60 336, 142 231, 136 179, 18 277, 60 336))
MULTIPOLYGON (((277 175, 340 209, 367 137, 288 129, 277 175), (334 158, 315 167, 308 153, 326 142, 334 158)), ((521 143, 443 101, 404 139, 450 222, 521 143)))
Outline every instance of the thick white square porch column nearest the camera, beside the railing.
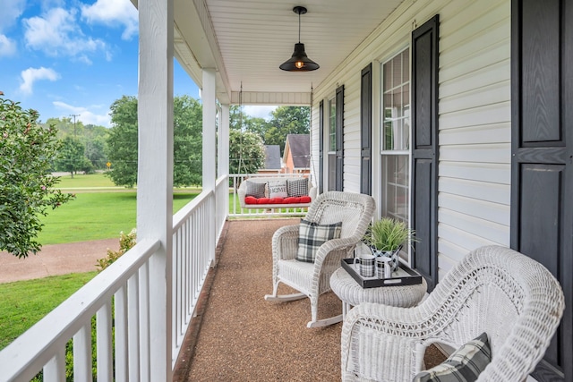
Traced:
MULTIPOLYGON (((139 0, 139 167, 137 240, 159 240, 150 259, 149 370, 141 380, 171 381, 173 241, 173 0, 139 0)), ((145 323, 142 324, 145 327, 145 323)), ((146 341, 145 335, 142 340, 146 341)))

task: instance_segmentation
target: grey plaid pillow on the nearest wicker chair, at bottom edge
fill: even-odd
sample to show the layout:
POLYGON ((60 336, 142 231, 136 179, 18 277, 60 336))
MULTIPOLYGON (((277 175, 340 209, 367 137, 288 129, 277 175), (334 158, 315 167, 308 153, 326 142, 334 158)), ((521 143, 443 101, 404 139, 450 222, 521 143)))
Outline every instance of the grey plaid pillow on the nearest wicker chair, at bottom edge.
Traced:
POLYGON ((413 382, 471 382, 475 381, 492 361, 492 352, 487 334, 464 344, 446 361, 432 369, 418 373, 413 382))

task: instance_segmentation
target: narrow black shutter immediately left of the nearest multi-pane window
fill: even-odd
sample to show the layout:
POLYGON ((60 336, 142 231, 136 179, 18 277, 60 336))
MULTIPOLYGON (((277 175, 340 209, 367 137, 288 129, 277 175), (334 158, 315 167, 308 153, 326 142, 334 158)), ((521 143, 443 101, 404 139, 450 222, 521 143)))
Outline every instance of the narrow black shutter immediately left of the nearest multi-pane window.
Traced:
POLYGON ((372 63, 360 85, 360 192, 372 195, 372 63))

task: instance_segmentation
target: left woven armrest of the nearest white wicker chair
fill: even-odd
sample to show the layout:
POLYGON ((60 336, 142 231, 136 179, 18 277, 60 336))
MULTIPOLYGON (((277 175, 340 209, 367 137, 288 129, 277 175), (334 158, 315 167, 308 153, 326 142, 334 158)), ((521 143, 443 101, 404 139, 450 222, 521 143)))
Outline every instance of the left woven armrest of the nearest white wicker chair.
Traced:
POLYGON ((411 381, 423 369, 431 330, 419 307, 356 306, 342 327, 342 379, 411 381))

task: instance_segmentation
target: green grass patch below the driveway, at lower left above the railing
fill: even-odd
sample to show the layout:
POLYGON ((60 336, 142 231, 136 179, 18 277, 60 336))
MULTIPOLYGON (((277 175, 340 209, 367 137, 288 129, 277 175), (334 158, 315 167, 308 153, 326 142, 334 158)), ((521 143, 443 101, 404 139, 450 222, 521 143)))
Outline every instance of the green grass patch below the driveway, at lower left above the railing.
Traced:
POLYGON ((54 310, 97 272, 0 284, 0 349, 54 310))

